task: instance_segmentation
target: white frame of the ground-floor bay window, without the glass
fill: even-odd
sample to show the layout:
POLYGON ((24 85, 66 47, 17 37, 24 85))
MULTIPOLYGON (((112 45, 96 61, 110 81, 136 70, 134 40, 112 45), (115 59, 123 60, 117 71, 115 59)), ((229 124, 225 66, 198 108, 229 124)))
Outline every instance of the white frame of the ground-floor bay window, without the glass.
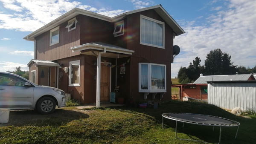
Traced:
POLYGON ((139 63, 139 92, 166 92, 166 65, 165 64, 158 64, 158 63, 139 63), (148 89, 141 89, 141 65, 147 64, 148 65, 148 89), (151 89, 151 66, 157 65, 157 66, 164 66, 165 72, 164 72, 164 78, 165 78, 165 89, 151 89))

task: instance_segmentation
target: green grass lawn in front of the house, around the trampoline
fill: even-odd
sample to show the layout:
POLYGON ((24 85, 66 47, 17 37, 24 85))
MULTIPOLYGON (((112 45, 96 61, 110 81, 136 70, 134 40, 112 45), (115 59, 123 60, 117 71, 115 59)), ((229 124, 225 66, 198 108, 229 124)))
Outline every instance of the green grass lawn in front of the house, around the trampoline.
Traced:
MULTIPOLYGON (((224 128, 222 143, 254 143, 256 141, 256 115, 249 118, 235 116, 213 105, 195 102, 170 101, 158 109, 112 107, 105 109, 78 110, 72 107, 56 109, 51 115, 38 115, 34 111, 10 113, 10 123, 0 127, 0 144, 9 143, 124 143, 165 144, 194 143, 175 138, 175 123, 165 120, 162 129, 161 114, 164 112, 189 112, 216 115, 239 121, 236 128, 224 128)), ((211 143, 218 142, 218 128, 178 124, 180 138, 195 138, 211 143)))

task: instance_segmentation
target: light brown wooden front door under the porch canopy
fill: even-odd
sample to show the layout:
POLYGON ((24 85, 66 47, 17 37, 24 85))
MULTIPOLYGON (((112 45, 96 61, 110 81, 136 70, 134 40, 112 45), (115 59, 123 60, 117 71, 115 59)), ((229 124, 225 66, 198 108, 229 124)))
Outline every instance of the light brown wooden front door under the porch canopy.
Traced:
POLYGON ((101 64, 100 101, 109 101, 110 96, 110 67, 101 64))

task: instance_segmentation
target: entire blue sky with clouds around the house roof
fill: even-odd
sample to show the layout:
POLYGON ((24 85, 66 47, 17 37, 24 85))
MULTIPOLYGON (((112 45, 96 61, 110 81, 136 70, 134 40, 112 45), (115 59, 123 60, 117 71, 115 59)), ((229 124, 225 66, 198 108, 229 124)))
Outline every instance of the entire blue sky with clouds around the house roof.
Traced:
POLYGON ((34 43, 23 37, 74 7, 113 17, 161 4, 185 30, 175 37, 181 48, 172 63, 172 77, 196 56, 220 48, 235 65, 255 66, 255 0, 0 0, 0 72, 13 71, 33 58, 34 43))

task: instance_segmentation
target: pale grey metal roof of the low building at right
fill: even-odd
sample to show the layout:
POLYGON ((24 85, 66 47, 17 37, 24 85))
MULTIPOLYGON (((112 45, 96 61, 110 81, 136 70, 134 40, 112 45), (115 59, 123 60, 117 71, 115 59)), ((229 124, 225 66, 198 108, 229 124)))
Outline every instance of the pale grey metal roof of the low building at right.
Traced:
POLYGON ((247 81, 252 74, 200 76, 193 84, 207 84, 207 81, 247 81))

